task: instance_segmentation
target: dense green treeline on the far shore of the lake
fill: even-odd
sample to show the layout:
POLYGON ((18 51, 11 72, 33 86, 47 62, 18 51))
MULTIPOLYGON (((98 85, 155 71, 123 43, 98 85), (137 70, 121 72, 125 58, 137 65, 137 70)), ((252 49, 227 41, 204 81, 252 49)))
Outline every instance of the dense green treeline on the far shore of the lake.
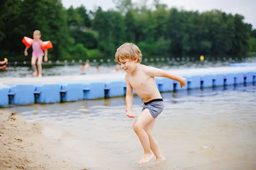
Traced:
MULTIPOLYGON (((134 42, 144 55, 234 55, 256 51, 256 30, 239 14, 214 10, 199 13, 115 0, 117 10, 65 9, 61 0, 2 0, 0 57, 28 59, 24 36, 41 31, 51 40, 49 58, 85 59, 112 56, 123 42, 134 42)), ((146 2, 146 1, 143 1, 146 2)), ((31 54, 31 49, 30 49, 31 54)))

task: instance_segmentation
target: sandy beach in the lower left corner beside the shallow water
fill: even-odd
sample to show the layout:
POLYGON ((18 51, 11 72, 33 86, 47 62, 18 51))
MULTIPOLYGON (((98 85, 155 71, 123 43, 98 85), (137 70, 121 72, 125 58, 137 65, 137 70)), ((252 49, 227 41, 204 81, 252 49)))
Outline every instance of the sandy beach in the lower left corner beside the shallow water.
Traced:
POLYGON ((87 170, 63 158, 60 141, 41 130, 40 123, 0 109, 0 170, 87 170))

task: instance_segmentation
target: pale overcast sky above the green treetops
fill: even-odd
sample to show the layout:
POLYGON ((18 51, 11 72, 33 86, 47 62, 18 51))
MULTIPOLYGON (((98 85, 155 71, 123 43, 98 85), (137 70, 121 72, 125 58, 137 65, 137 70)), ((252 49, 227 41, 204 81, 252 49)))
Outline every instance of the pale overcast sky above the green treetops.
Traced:
MULTIPOLYGON (((148 0, 152 3, 153 0, 148 0)), ((132 2, 140 2, 140 0, 132 0, 132 2)), ((169 7, 183 7, 185 10, 209 11, 212 9, 220 9, 226 13, 241 14, 245 17, 245 22, 256 28, 256 0, 161 0, 161 3, 167 4, 169 7)), ((113 0, 62 0, 65 8, 78 7, 83 4, 87 10, 95 11, 97 6, 103 10, 115 8, 113 0)))

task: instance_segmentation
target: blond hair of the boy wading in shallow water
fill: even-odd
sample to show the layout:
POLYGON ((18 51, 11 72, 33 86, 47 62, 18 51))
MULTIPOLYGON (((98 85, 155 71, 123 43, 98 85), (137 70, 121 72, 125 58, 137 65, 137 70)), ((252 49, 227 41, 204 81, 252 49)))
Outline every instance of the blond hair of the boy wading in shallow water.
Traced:
POLYGON ((142 61, 142 54, 140 51, 140 48, 137 47, 137 45, 133 43, 124 43, 116 50, 115 58, 116 62, 120 62, 121 60, 130 59, 134 61, 135 57, 138 58, 137 62, 142 61))

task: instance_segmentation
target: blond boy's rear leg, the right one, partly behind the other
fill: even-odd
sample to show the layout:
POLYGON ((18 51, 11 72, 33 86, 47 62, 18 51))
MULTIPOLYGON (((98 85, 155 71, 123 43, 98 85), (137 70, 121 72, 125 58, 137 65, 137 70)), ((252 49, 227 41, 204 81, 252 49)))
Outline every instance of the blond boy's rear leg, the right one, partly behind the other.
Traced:
POLYGON ((152 130, 153 130, 155 122, 156 122, 156 119, 152 120, 151 122, 148 123, 148 125, 145 125, 145 127, 143 129, 148 134, 148 139, 149 139, 151 150, 153 151, 153 153, 155 154, 155 156, 157 158, 156 163, 160 163, 162 161, 165 161, 165 157, 162 155, 159 145, 158 145, 156 139, 154 139, 154 137, 152 135, 152 130))

